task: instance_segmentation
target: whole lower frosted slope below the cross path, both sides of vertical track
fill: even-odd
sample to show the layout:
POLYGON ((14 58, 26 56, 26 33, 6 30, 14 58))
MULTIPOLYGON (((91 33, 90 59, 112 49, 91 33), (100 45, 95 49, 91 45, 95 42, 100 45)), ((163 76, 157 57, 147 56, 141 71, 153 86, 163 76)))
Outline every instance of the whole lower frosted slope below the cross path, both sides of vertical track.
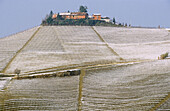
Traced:
POLYGON ((13 80, 0 92, 0 110, 75 111, 79 103, 82 111, 150 111, 170 92, 169 66, 167 59, 86 70, 84 76, 13 80))

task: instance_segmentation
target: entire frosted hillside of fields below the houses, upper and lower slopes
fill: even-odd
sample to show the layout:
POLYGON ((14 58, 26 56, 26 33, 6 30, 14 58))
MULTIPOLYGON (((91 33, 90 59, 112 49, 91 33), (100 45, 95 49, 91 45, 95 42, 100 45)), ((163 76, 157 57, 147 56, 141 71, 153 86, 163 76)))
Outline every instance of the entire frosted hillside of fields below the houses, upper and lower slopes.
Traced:
POLYGON ((0 92, 0 110, 164 110, 170 59, 157 59, 169 47, 168 30, 144 28, 40 26, 0 39, 5 74, 118 63, 80 76, 13 80, 0 92))

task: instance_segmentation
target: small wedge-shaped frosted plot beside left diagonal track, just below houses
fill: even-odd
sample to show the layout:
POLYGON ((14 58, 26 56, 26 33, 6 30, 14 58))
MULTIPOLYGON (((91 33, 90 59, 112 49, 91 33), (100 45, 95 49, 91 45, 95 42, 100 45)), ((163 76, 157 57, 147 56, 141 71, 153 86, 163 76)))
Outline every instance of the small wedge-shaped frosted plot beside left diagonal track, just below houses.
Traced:
POLYGON ((43 27, 34 36, 23 52, 63 52, 58 36, 51 27, 43 27))

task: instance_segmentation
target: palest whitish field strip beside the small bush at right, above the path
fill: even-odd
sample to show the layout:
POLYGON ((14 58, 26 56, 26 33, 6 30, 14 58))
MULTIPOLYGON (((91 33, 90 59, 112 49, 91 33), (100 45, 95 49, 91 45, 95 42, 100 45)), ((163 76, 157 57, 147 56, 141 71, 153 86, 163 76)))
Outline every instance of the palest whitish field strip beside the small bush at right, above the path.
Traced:
POLYGON ((170 42, 160 44, 111 44, 114 50, 127 60, 158 59, 158 56, 170 52, 170 42))

